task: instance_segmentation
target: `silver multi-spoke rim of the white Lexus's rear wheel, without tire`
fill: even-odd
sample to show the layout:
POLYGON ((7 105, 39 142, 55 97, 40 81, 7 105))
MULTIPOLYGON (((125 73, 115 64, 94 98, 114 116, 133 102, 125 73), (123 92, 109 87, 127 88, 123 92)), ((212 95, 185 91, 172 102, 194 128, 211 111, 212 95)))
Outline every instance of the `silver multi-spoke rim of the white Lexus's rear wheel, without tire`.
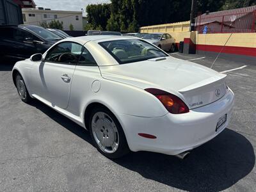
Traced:
POLYGON ((92 117, 92 134, 100 150, 108 154, 116 152, 119 146, 119 134, 114 120, 104 112, 92 117))

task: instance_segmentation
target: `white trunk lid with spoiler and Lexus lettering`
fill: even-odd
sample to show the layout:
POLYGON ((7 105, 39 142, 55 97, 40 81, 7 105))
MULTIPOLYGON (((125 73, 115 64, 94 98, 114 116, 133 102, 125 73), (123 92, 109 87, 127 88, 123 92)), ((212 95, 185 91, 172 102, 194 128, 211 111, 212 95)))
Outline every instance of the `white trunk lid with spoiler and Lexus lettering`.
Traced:
POLYGON ((100 67, 102 77, 138 88, 158 88, 180 97, 189 109, 210 104, 225 95, 226 75, 189 61, 167 57, 100 67))

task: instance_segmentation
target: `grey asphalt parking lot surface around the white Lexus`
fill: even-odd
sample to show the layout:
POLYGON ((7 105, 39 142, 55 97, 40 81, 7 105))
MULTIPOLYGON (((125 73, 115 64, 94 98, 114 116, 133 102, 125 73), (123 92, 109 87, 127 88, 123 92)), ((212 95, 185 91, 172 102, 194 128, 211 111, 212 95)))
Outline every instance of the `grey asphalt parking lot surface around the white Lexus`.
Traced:
MULTIPOLYGON (((207 67, 214 61, 171 55, 207 67)), ((216 61, 214 70, 231 70, 225 74, 236 97, 232 121, 188 158, 137 152, 112 161, 79 125, 36 100, 21 102, 13 65, 0 63, 0 191, 256 191, 253 64, 216 61)))

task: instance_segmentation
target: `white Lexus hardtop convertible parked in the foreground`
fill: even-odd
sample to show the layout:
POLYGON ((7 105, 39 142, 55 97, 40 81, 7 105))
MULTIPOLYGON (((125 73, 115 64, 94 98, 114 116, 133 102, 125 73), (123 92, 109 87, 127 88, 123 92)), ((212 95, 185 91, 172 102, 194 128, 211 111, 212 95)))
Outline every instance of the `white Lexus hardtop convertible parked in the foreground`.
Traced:
POLYGON ((20 99, 38 99, 90 131, 109 158, 145 150, 184 157, 230 121, 234 93, 210 68, 144 40, 81 36, 19 61, 20 99))

